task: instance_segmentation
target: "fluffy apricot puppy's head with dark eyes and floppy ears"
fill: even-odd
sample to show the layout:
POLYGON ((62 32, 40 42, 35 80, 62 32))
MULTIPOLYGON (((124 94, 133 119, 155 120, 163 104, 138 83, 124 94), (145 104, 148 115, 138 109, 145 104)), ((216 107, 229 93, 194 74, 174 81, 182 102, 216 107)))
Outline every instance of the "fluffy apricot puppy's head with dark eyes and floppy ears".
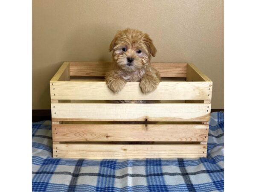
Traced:
POLYGON ((113 60, 120 68, 133 72, 150 62, 157 49, 148 34, 128 28, 116 33, 109 51, 113 51, 113 60))

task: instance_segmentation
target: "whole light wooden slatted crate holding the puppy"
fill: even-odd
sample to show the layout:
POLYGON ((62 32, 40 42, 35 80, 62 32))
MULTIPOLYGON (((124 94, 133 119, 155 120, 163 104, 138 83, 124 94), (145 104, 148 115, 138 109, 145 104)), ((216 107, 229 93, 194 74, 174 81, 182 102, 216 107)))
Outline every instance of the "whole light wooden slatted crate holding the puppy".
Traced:
POLYGON ((104 81, 110 62, 64 62, 50 81, 53 157, 206 157, 212 81, 194 64, 152 65, 157 90, 145 95, 127 82, 115 94, 104 81))

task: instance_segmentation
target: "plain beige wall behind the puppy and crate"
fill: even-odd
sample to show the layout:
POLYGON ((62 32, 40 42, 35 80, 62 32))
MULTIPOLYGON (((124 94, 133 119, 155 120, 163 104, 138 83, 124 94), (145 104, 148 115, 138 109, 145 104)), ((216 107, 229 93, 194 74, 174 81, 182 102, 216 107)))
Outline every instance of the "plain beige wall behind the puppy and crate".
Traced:
POLYGON ((49 80, 63 61, 111 61, 119 29, 140 29, 157 47, 152 61, 192 62, 213 81, 224 108, 223 0, 33 0, 32 108, 50 109, 49 80))

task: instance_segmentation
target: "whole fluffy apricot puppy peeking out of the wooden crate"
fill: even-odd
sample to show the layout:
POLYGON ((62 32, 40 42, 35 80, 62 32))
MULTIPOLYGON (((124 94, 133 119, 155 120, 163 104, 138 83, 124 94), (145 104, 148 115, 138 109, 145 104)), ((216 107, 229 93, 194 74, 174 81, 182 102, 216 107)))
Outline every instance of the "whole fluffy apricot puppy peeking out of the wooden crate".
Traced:
POLYGON ((129 28, 118 31, 109 51, 113 51, 113 61, 105 79, 114 93, 121 91, 127 81, 140 81, 143 93, 157 88, 161 81, 160 74, 150 63, 151 56, 155 56, 157 49, 148 34, 129 28))

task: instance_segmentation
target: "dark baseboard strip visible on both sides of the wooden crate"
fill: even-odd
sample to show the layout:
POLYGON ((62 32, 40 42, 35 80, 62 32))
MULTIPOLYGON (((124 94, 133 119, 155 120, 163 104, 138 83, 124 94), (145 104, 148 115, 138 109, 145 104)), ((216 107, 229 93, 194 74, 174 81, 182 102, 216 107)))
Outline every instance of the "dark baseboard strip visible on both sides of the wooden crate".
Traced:
MULTIPOLYGON (((223 111, 224 109, 211 109, 211 112, 223 111)), ((32 122, 52 120, 50 109, 32 109, 32 122)))

